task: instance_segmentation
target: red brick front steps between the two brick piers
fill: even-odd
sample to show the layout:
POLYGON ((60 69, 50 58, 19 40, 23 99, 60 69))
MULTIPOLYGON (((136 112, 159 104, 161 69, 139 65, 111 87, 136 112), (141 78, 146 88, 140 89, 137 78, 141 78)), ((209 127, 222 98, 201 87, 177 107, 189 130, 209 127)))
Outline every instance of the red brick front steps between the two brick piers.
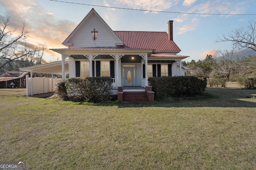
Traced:
POLYGON ((126 102, 148 102, 146 92, 124 92, 123 101, 126 102))

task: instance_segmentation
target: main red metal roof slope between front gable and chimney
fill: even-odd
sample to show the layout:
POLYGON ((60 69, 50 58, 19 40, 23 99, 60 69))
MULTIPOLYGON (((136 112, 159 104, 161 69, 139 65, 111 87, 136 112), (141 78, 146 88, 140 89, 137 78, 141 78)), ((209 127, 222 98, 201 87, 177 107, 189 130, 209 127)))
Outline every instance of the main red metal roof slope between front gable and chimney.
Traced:
POLYGON ((168 39, 166 32, 114 31, 125 47, 135 49, 154 49, 156 52, 180 52, 174 41, 168 39))

